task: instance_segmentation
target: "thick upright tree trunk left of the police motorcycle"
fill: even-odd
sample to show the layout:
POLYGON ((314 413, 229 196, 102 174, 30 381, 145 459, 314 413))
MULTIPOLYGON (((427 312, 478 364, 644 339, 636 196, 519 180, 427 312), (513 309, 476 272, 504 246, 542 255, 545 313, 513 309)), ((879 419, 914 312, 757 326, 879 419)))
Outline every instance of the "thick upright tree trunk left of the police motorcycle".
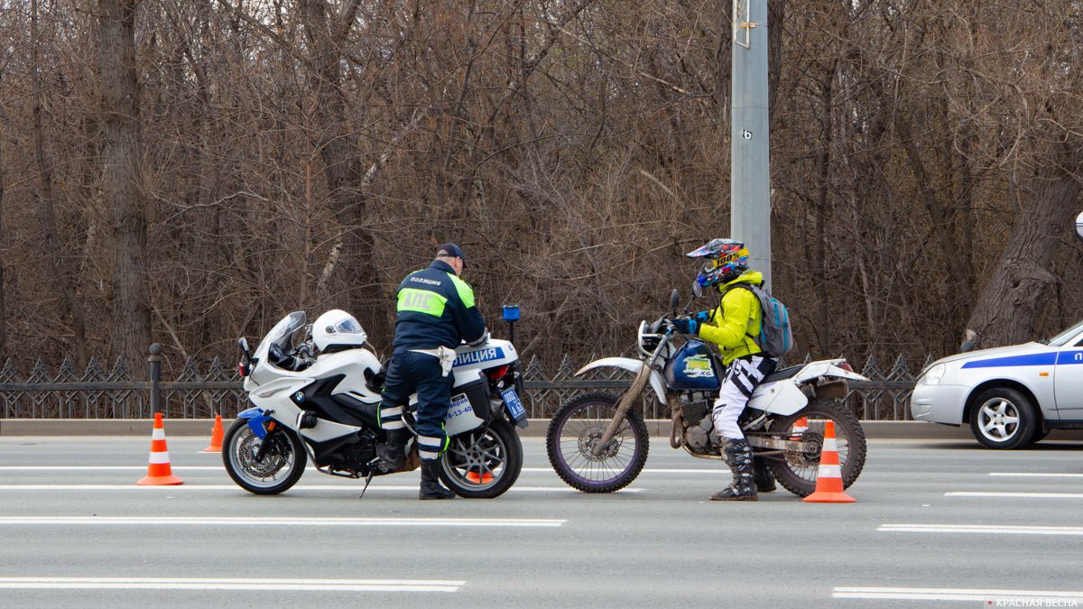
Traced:
POLYGON ((145 287, 146 210, 140 166, 135 8, 139 0, 100 0, 102 193, 113 241, 112 354, 136 365, 151 341, 145 287))

